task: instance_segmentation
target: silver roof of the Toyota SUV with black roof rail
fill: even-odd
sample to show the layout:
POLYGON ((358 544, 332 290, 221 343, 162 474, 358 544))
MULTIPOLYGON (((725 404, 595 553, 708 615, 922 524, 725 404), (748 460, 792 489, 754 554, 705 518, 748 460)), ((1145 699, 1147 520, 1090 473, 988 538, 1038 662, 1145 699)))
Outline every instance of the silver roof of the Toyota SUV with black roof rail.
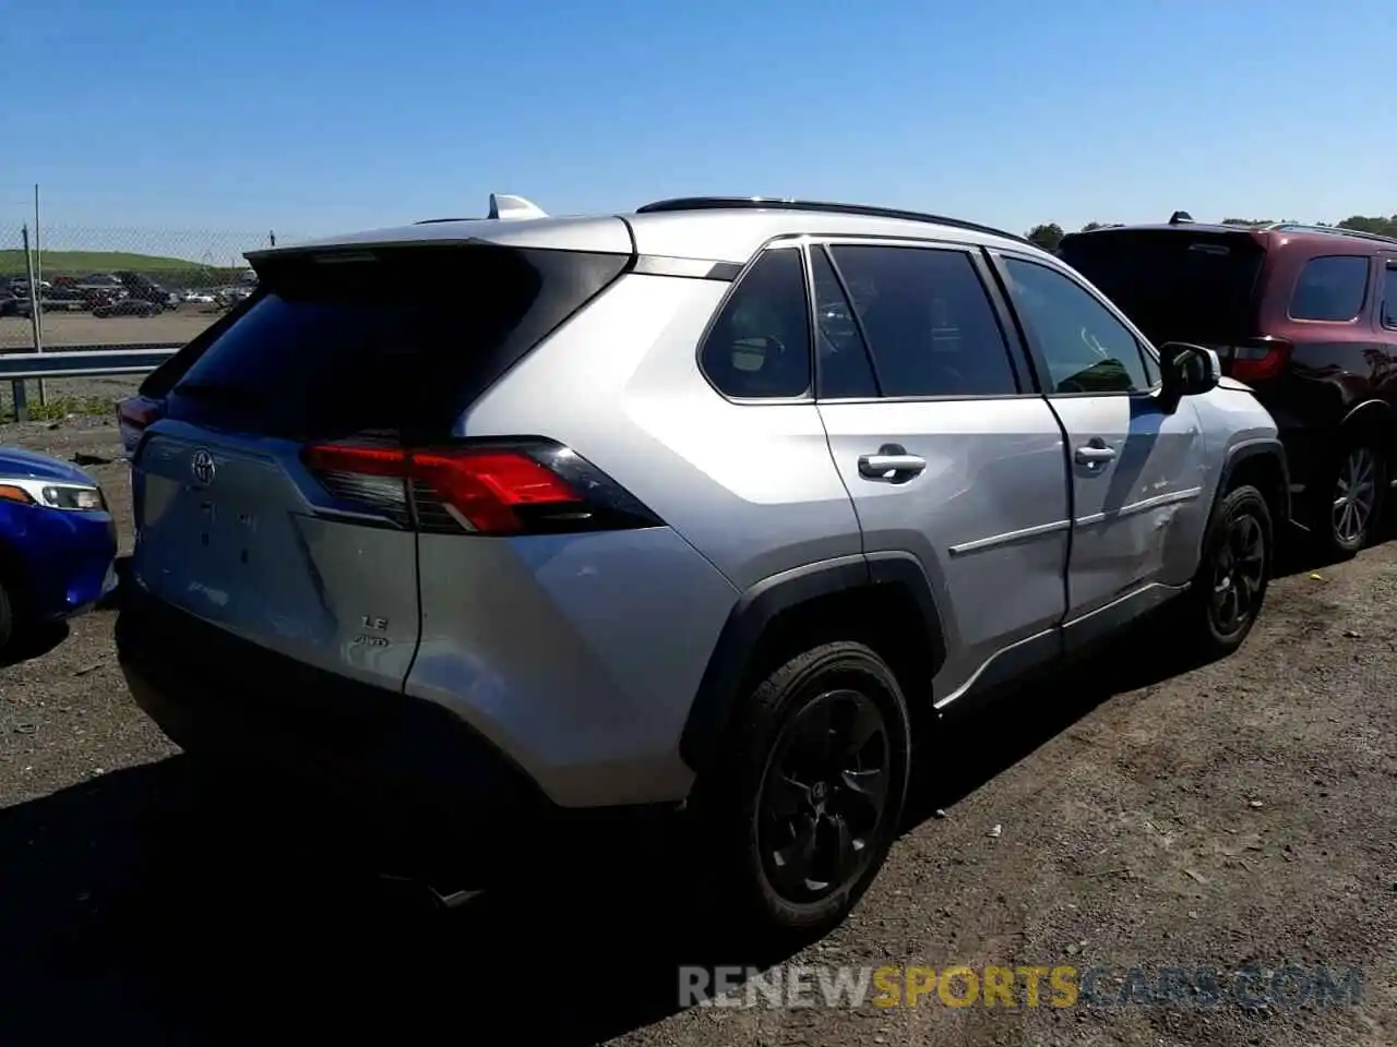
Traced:
POLYGON ((743 264, 767 242, 799 235, 946 240, 1052 257, 1013 233, 940 215, 823 201, 692 197, 613 215, 432 219, 250 251, 247 260, 257 264, 305 251, 476 242, 743 264))

